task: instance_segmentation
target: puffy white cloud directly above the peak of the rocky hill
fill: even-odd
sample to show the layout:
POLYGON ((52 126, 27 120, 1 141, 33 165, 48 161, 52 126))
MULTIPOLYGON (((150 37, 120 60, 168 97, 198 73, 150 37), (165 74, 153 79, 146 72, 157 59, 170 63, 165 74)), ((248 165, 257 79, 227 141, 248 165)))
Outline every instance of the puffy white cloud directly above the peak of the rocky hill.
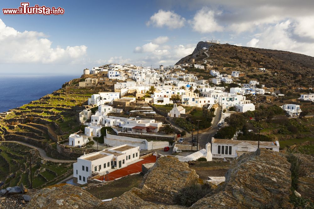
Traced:
POLYGON ((198 10, 189 23, 192 24, 192 28, 200 33, 211 33, 215 31, 222 31, 224 28, 220 26, 216 20, 215 15, 219 15, 221 12, 215 13, 213 10, 203 7, 198 10))

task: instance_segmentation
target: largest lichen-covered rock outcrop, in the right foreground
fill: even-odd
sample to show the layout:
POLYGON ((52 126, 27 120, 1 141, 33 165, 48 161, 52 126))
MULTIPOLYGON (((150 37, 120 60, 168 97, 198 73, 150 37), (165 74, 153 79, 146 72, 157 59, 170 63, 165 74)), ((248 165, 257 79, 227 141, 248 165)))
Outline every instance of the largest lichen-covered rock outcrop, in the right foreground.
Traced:
POLYGON ((290 187, 290 163, 285 156, 258 149, 235 160, 225 183, 191 208, 292 208, 288 202, 290 187))

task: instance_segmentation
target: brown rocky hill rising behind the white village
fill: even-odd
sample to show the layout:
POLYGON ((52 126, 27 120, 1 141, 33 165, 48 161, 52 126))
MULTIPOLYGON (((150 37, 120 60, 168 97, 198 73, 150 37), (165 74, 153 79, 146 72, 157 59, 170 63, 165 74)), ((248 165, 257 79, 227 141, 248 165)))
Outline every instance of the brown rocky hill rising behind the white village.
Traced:
POLYGON ((293 52, 201 41, 191 55, 176 64, 192 63, 192 59, 197 64, 207 60, 207 64, 221 71, 241 70, 253 75, 250 78, 261 78, 274 87, 312 87, 314 84, 314 57, 293 52), (203 50, 203 47, 208 50, 203 50), (267 71, 261 72, 257 68, 266 68, 267 71))

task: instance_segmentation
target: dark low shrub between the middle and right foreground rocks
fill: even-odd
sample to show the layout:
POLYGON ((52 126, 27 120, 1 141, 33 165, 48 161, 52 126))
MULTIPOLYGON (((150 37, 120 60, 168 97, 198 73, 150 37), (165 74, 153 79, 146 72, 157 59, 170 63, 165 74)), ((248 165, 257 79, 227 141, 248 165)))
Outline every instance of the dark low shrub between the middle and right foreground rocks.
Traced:
POLYGON ((183 187, 174 196, 174 201, 178 205, 190 207, 199 199, 207 195, 210 191, 212 191, 212 189, 208 184, 183 187))

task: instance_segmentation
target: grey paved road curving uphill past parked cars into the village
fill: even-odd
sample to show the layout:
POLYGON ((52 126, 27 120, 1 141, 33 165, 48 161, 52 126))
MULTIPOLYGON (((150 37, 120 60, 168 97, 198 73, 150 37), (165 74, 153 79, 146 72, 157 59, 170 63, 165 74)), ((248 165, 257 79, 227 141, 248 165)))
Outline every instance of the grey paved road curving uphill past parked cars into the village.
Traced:
MULTIPOLYGON (((198 134, 198 143, 199 143, 199 148, 200 149, 205 148, 205 145, 207 143, 211 142, 212 137, 214 137, 216 131, 220 128, 220 127, 217 127, 217 125, 218 125, 218 123, 220 121, 220 118, 221 118, 221 106, 219 105, 218 109, 217 109, 217 112, 216 112, 216 116, 215 116, 213 124, 212 124, 212 128, 209 129, 206 132, 198 134)), ((202 123, 202 122, 200 122, 200 123, 202 123)), ((197 131, 194 134, 196 135, 197 131)), ((185 141, 186 142, 191 142, 192 141, 192 136, 185 138, 185 141)))

